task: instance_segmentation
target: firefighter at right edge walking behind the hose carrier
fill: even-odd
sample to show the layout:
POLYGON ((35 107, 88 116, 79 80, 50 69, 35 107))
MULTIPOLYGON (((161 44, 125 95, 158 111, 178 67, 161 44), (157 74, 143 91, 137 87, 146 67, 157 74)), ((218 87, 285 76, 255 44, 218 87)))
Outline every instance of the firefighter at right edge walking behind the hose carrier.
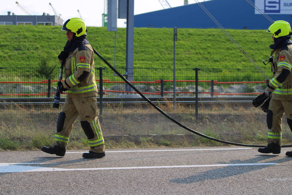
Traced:
MULTIPOLYGON (((262 100, 269 98, 267 109, 267 146, 258 152, 280 154, 282 137, 282 116, 285 112, 287 123, 292 131, 292 41, 290 24, 283 20, 272 22, 267 32, 272 33, 274 44, 270 45, 273 78, 262 95, 262 100), (275 56, 273 58, 272 56, 275 56), (264 96, 264 98, 263 98, 264 96)), ((259 96, 257 97, 260 101, 259 96)), ((256 98, 256 99, 257 99, 256 98)), ((286 152, 286 156, 292 156, 286 152)))

